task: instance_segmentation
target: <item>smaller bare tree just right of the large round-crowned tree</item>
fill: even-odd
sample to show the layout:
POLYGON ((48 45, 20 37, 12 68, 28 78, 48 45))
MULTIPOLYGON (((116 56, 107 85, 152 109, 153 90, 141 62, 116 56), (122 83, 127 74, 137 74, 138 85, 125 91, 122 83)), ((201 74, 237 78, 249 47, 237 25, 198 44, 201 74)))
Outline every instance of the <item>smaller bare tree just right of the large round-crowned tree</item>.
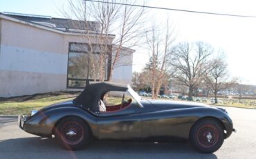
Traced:
POLYGON ((218 103, 217 93, 219 93, 219 91, 223 91, 229 86, 228 82, 226 82, 228 77, 228 64, 224 61, 223 54, 213 59, 212 64, 212 69, 206 77, 206 83, 208 84, 210 91, 214 93, 215 103, 218 103))

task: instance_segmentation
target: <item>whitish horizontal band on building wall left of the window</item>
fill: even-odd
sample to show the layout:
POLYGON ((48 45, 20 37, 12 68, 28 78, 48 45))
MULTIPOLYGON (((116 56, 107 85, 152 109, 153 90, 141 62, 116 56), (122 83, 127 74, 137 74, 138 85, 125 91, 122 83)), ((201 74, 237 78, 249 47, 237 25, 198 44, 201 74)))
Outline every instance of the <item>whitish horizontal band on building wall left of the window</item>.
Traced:
POLYGON ((66 75, 68 56, 1 44, 0 70, 66 75))

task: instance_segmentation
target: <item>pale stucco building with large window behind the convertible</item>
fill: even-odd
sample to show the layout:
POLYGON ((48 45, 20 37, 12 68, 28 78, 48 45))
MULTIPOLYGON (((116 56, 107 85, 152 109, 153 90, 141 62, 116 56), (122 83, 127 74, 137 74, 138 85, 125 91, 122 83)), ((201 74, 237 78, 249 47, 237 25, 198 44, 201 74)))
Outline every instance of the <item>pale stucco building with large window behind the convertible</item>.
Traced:
MULTIPOLYGON (((0 97, 84 87, 87 79, 97 77, 88 60, 89 51, 94 59, 101 52, 97 25, 94 21, 82 24, 71 19, 0 13, 0 97)), ((107 41, 109 55, 114 55, 115 35, 102 38, 107 41)), ((127 55, 114 69, 113 81, 128 84, 134 50, 122 48, 122 53, 127 55)), ((109 57, 105 79, 110 65, 109 57)))

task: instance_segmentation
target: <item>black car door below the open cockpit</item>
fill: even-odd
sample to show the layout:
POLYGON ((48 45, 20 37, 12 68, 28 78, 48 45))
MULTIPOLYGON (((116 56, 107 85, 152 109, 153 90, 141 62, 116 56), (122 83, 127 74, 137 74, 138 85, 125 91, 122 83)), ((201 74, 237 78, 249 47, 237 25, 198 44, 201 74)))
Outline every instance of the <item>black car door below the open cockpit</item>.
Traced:
POLYGON ((141 138, 142 121, 138 105, 131 104, 127 109, 98 115, 98 138, 130 140, 141 138))

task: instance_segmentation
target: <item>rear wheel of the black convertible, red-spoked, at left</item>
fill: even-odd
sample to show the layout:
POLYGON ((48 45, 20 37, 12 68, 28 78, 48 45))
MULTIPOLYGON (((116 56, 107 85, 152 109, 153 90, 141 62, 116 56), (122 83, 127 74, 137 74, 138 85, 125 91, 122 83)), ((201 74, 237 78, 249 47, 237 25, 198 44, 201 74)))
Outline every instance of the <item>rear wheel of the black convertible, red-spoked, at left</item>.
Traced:
POLYGON ((64 149, 78 150, 91 142, 91 131, 82 119, 68 117, 57 124, 55 138, 64 149))

